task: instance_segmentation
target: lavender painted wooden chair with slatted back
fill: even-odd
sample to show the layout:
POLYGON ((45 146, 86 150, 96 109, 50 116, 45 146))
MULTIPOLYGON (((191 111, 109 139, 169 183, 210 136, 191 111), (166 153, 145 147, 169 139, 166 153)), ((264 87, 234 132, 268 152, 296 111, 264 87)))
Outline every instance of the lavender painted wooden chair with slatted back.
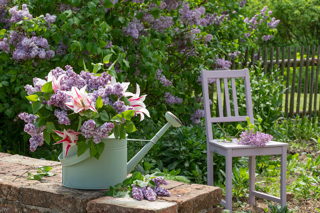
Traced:
POLYGON ((236 141, 232 143, 218 142, 212 136, 212 123, 218 122, 235 122, 246 121, 249 117, 250 122, 253 121, 252 98, 249 70, 202 70, 202 93, 204 98, 204 118, 205 128, 207 134, 207 176, 208 185, 213 185, 213 152, 226 157, 226 200, 221 200, 221 205, 232 212, 232 157, 249 156, 249 204, 255 204, 255 197, 275 201, 283 206, 286 203, 286 156, 287 156, 287 143, 280 143, 270 141, 264 147, 239 145, 236 141), (211 117, 210 103, 209 103, 209 89, 208 78, 216 79, 217 91, 217 106, 219 109, 219 117, 211 117), (228 78, 231 78, 231 88, 234 106, 234 116, 231 115, 230 98, 228 88, 228 78), (239 116, 236 83, 235 78, 244 79, 245 97, 246 97, 246 111, 247 114, 239 116), (225 109, 227 116, 223 115, 222 96, 220 79, 223 79, 224 94, 225 94, 225 109), (259 155, 281 155, 281 189, 280 197, 275 197, 265 193, 255 191, 255 156, 259 155))

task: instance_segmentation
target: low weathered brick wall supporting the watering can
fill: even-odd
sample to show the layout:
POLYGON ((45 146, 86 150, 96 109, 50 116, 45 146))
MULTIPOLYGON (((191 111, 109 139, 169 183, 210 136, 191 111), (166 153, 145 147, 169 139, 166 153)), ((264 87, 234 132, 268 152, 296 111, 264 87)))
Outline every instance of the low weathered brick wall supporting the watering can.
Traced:
MULTIPOLYGON (((32 171, 32 170, 31 170, 32 171)), ((34 170, 33 170, 34 171, 34 170)), ((8 212, 79 212, 79 213, 220 213, 216 207, 222 190, 214 186, 168 181, 163 186, 171 195, 157 196, 156 201, 105 196, 104 190, 79 190, 62 186, 60 162, 39 160, 21 155, 0 153, 0 209, 8 212), (51 166, 57 175, 41 180, 17 178, 33 167, 51 166), (181 195, 178 197, 177 195, 181 195), (10 210, 11 208, 11 210, 10 210)))

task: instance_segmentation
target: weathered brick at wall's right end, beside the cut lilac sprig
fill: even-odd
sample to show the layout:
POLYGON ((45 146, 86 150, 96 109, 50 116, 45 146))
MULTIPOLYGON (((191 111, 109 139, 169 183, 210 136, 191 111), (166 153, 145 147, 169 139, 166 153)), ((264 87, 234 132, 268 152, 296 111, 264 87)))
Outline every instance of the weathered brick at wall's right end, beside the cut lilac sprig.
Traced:
POLYGON ((177 202, 178 212, 197 212, 220 204, 222 198, 221 188, 200 184, 180 185, 171 189, 170 192, 169 197, 159 196, 158 199, 177 202))

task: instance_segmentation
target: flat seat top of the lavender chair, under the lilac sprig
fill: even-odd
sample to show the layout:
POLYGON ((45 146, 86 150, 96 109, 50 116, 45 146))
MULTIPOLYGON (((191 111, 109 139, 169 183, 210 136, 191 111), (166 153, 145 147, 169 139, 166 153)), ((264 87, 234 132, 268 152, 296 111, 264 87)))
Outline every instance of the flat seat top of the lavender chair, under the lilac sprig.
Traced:
MULTIPOLYGON (((217 140, 210 140, 210 144, 219 146, 223 149, 248 149, 248 148, 260 148, 262 146, 253 146, 253 145, 243 145, 243 144, 238 144, 236 142, 236 139, 232 139, 232 142, 219 142, 217 140)), ((278 146, 288 146, 288 143, 281 143, 277 141, 269 141, 266 143, 265 146, 263 147, 278 147, 278 146)))

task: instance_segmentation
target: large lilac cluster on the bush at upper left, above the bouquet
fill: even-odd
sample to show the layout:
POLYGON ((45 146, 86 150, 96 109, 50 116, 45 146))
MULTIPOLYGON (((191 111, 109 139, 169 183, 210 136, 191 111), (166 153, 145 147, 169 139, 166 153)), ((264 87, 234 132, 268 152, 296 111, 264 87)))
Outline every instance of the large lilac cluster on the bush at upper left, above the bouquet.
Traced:
POLYGON ((9 44, 15 47, 12 57, 17 61, 25 61, 36 57, 51 59, 54 56, 54 51, 49 49, 47 39, 41 36, 33 36, 30 39, 25 33, 12 31, 9 44))

